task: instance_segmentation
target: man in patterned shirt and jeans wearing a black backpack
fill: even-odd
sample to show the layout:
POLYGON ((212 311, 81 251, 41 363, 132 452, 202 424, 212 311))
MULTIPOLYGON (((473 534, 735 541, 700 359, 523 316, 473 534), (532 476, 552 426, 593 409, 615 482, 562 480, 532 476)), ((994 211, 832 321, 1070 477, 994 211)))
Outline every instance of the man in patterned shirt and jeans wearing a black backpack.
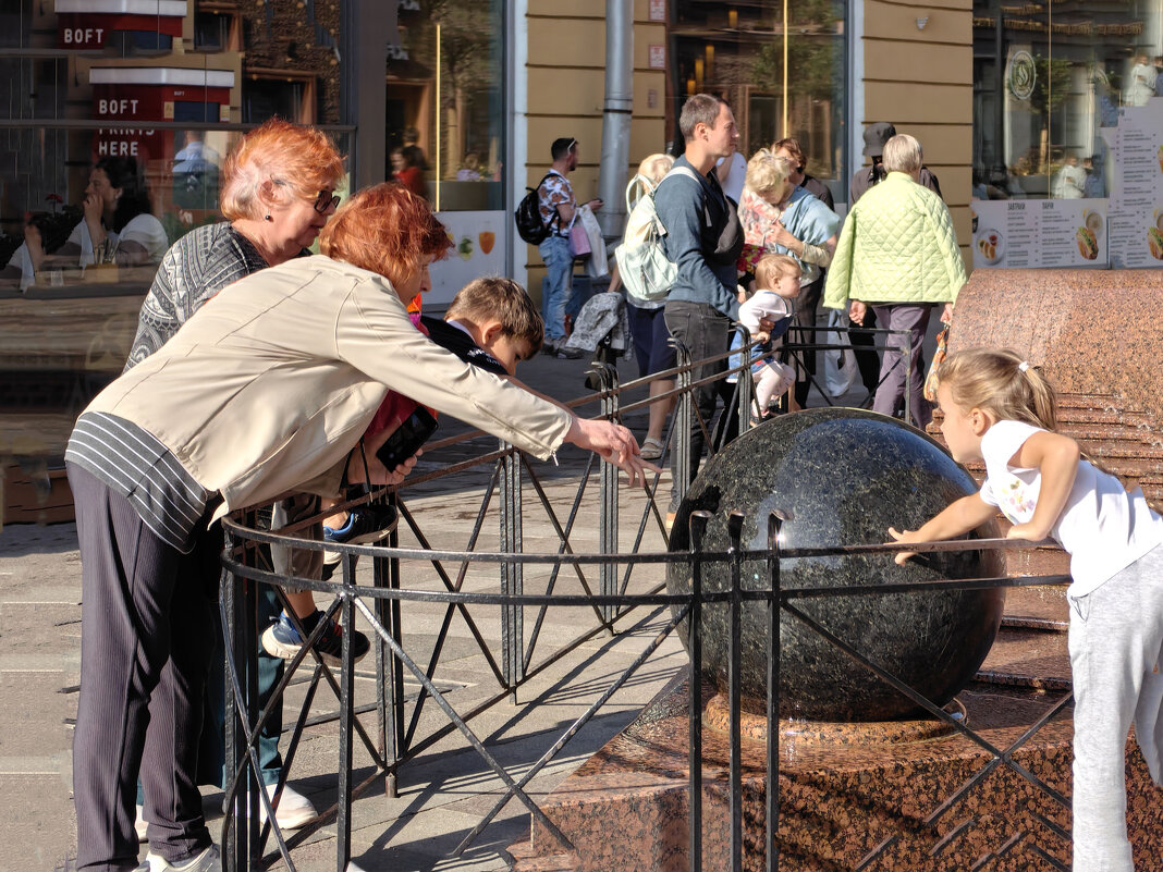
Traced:
MULTIPOLYGON (((573 186, 566 178, 578 165, 578 141, 572 137, 554 140, 550 146, 554 163, 537 186, 537 207, 545 236, 537 243, 537 251, 545 263, 545 278, 541 283, 541 316, 545 322, 545 342, 542 353, 580 356, 565 351, 565 306, 573 288, 573 255, 570 251, 570 228, 577 215, 573 186)), ((601 200, 591 200, 590 208, 601 207, 601 200)), ((520 213, 518 226, 520 229, 520 213)), ((522 238, 528 240, 525 234, 522 238)))

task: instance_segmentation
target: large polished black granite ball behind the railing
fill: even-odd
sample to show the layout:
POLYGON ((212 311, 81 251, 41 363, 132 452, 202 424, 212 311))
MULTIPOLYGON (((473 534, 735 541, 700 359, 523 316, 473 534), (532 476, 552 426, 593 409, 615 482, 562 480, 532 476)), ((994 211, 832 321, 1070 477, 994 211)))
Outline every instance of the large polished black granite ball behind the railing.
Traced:
MULTIPOLYGON (((742 548, 766 548, 768 517, 789 516, 782 549, 833 548, 887 542, 889 528, 915 530, 977 489, 973 479, 940 444, 896 419, 859 409, 806 409, 740 436, 699 472, 670 537, 671 551, 688 551, 692 512, 705 509, 701 549, 726 551, 727 519, 744 514, 742 548)), ((996 536, 993 522, 975 537, 996 536)), ((930 579, 1001 574, 996 551, 919 555, 898 566, 891 553, 784 559, 780 585, 876 586, 930 579)), ((742 566, 742 587, 769 585, 765 560, 742 566)), ((691 565, 670 566, 668 588, 688 593, 691 565)), ((704 565, 705 591, 730 588, 726 562, 704 565)), ((792 605, 856 651, 937 705, 965 686, 982 665, 1001 622, 1004 589, 940 591, 794 599, 792 605)), ((702 666, 727 688, 729 614, 725 605, 702 609, 702 666)), ((741 685, 744 708, 762 712, 766 698, 766 605, 744 602, 741 685)), ((682 628, 690 650, 688 627, 682 628)), ((802 621, 780 616, 779 714, 815 721, 890 721, 918 716, 907 696, 832 646, 802 621)))

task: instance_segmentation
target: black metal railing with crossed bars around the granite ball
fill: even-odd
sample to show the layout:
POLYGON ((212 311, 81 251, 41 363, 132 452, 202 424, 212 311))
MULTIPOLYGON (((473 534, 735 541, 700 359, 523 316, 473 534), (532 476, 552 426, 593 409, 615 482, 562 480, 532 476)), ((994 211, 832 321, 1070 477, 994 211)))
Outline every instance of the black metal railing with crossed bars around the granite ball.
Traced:
MULTIPOLYGON (((797 350, 804 352, 809 346, 800 346, 797 350)), ((697 419, 697 410, 690 402, 690 392, 699 383, 692 378, 692 372, 706 362, 692 363, 685 350, 678 349, 679 364, 675 370, 659 373, 658 377, 675 378, 678 383, 676 395, 679 405, 673 416, 672 428, 676 430, 675 444, 679 455, 678 466, 682 466, 685 457, 685 436, 692 429, 691 424, 697 419), (684 423, 685 421, 685 423, 684 423)), ((747 364, 739 367, 747 373, 747 364)), ((729 370, 728 373, 729 374, 729 370)), ((645 380, 637 380, 619 385, 616 373, 609 367, 598 367, 600 389, 593 398, 575 401, 572 405, 583 405, 585 401, 597 400, 601 403, 601 414, 618 420, 622 415, 641 409, 650 400, 638 400, 623 402, 622 398, 636 388, 641 388, 645 380)), ((740 415, 740 429, 748 427, 748 419, 751 405, 749 392, 750 379, 740 378, 736 393, 729 403, 730 413, 740 415)), ((700 421, 700 427, 707 434, 707 444, 711 450, 715 445, 709 438, 713 428, 711 422, 700 421)), ((447 448, 459 439, 445 439, 434 444, 431 448, 447 448)), ((807 614, 799 603, 806 600, 821 596, 861 596, 870 594, 904 593, 912 592, 923 595, 926 591, 935 589, 983 589, 993 587, 1011 587, 1022 585, 1058 585, 1068 584, 1069 577, 1033 577, 1021 579, 986 578, 971 579, 965 581, 919 581, 900 582, 876 586, 854 586, 843 588, 785 588, 780 584, 780 564, 783 560, 805 557, 836 556, 848 553, 869 553, 877 551, 893 551, 891 545, 852 545, 834 549, 795 549, 787 550, 779 546, 779 526, 782 523, 780 513, 773 513, 766 519, 761 519, 766 524, 768 548, 761 551, 745 551, 741 546, 740 531, 743 524, 743 516, 735 513, 728 523, 729 548, 725 552, 706 552, 702 549, 704 528, 708 515, 706 513, 694 513, 691 517, 690 550, 685 552, 671 552, 665 549, 665 521, 664 514, 656 501, 656 489, 659 477, 648 483, 641 492, 628 492, 618 479, 616 467, 600 463, 591 456, 577 483, 576 491, 570 501, 570 508, 565 517, 561 517, 555 508, 554 501, 548 493, 548 485, 542 481, 536 471, 528 464, 527 459, 509 446, 501 446, 497 451, 488 451, 477 457, 459 460, 448 465, 438 472, 429 472, 413 477, 406 487, 395 492, 394 499, 400 510, 401 523, 411 530, 411 535, 416 542, 414 548, 401 548, 399 533, 393 533, 385 546, 371 545, 333 545, 328 544, 328 550, 340 551, 342 555, 342 577, 337 581, 320 581, 314 579, 291 578, 279 576, 269 567, 258 565, 256 559, 259 553, 258 544, 264 543, 271 546, 291 546, 298 549, 321 550, 324 544, 311 539, 305 539, 294 534, 297 529, 287 528, 280 531, 265 531, 258 529, 252 521, 245 519, 228 519, 224 527, 228 535, 228 546, 223 564, 228 574, 227 584, 223 585, 221 608, 223 613, 223 627, 227 636, 227 660, 228 660, 228 710, 237 712, 237 717, 227 719, 228 732, 228 760, 234 760, 235 775, 226 792, 226 808, 228 812, 223 824, 223 845, 227 866, 235 870, 251 870, 263 867, 269 862, 281 857, 288 870, 294 870, 292 851, 304 843, 320 827, 334 821, 336 825, 336 867, 344 870, 350 860, 351 853, 351 803, 356 796, 372 785, 378 778, 386 779, 386 789, 390 795, 394 795, 397 778, 400 769, 409 760, 414 759, 422 751, 430 749, 441 739, 459 734, 463 742, 475 749, 485 766, 504 785, 502 795, 497 800, 492 809, 485 814, 481 821, 462 841, 457 852, 465 850, 480 831, 493 820, 505 805, 512 800, 521 802, 529 812, 535 823, 550 834, 563 849, 571 849, 571 842, 545 812, 530 798, 526 789, 530 780, 536 777, 550 762, 552 762, 566 745, 578 735, 598 712, 601 710, 608 700, 630 681, 635 673, 650 660, 659 645, 679 628, 683 622, 690 627, 687 646, 690 652, 690 760, 701 759, 702 750, 702 674, 697 664, 701 663, 701 632, 702 610, 706 606, 725 607, 729 610, 729 644, 728 644, 728 721, 729 721, 729 821, 730 821, 730 867, 742 869, 743 864, 743 819, 742 819, 742 767, 741 746, 742 738, 740 731, 741 720, 741 692, 740 692, 740 646, 741 646, 741 620, 740 614, 744 603, 761 603, 768 612, 770 623, 768 634, 768 693, 765 712, 769 726, 776 724, 779 710, 779 674, 780 674, 780 619, 789 616, 802 626, 809 628, 832 645, 843 651, 866 669, 877 680, 884 681, 899 693, 911 699, 918 707, 925 709, 933 717, 944 722, 952 730, 963 735, 969 742, 983 749, 990 757, 989 763, 973 774, 965 784, 937 805, 925 820, 925 825, 935 828, 942 817, 955 807, 959 800, 977 784, 985 779, 992 771, 1004 766, 1015 772, 1023 779, 1032 789, 1049 798, 1054 803, 1069 808, 1069 802, 1050 785, 1047 785, 1026 766, 1019 763, 1014 755, 1025 745, 1037 730, 1040 730, 1053 717, 1058 715, 1070 702, 1071 695, 1064 692, 1053 706, 1008 748, 998 748, 989 739, 976 732, 963 721, 952 717, 941 706, 926 699, 922 694, 909 687, 896 676, 878 666, 875 662, 851 646, 827 627, 819 623, 807 614), (421 485, 429 484, 438 478, 455 473, 463 473, 473 467, 491 470, 488 481, 485 485, 476 519, 469 534, 469 542, 461 550, 440 550, 431 546, 430 537, 423 529, 422 509, 413 512, 413 506, 420 500, 413 500, 409 493, 421 485), (592 493, 592 480, 597 478, 597 494, 592 493), (526 509, 526 500, 531 492, 534 505, 544 513, 544 521, 534 522, 538 529, 548 527, 557 538, 558 545, 551 552, 525 552, 525 533, 530 521, 526 509), (478 550, 477 545, 483 538, 485 523, 490 516, 488 509, 497 502, 498 531, 495 551, 478 550), (573 529, 579 513, 592 510, 597 505, 599 513, 598 541, 590 550, 579 551, 573 546, 573 529), (621 516, 628 512, 638 513, 632 542, 626 545, 620 542, 619 531, 621 516), (662 541, 656 549, 647 546, 648 542, 656 542, 651 530, 661 534, 662 541), (372 563, 371 586, 357 584, 356 560, 363 557, 372 563), (741 567, 744 562, 759 562, 766 566, 768 579, 765 585, 756 587, 749 582, 747 589, 741 585, 741 567), (658 572, 664 571, 672 564, 682 564, 688 571, 692 579, 690 593, 668 593, 658 578, 658 572), (434 578, 438 584, 435 589, 422 586, 405 586, 401 576, 401 564, 408 566, 427 565, 431 569, 429 578, 434 578), (726 564, 730 573, 730 587, 727 591, 706 591, 702 586, 702 577, 706 567, 711 564, 726 564), (455 570, 450 567, 456 567, 455 570), (495 592, 471 592, 464 588, 465 579, 472 569, 491 567, 497 573, 498 586, 495 592), (547 570, 548 579, 542 592, 530 593, 526 589, 526 570, 547 570), (593 584, 593 573, 597 572, 597 584, 593 584), (559 579, 563 573, 570 574, 577 580, 579 592, 563 592, 558 589, 559 579), (256 686, 255 652, 257 651, 258 628, 256 621, 256 587, 259 584, 285 585, 292 584, 295 587, 311 588, 316 593, 322 593, 331 598, 331 603, 327 609, 327 616, 336 615, 344 629, 343 650, 338 669, 329 667, 312 649, 319 634, 322 631, 324 622, 320 622, 316 631, 307 638, 299 655, 287 664, 285 674, 280 684, 270 695, 270 701, 262 709, 255 700, 258 699, 256 686), (444 608, 444 616, 441 630, 436 634, 428 662, 419 659, 416 651, 409 651, 404 642, 401 606, 405 603, 437 603, 444 608), (475 619, 476 609, 495 608, 500 616, 500 652, 499 657, 486 641, 486 634, 479 628, 475 619), (542 627, 550 608, 571 609, 579 615, 572 623, 578 626, 578 632, 573 638, 552 646, 544 651, 542 644, 542 627), (658 609, 670 609, 670 615, 663 621, 662 628, 655 634, 650 643, 622 670, 597 698, 585 708, 583 714, 575 719, 555 741, 545 749, 537 759, 530 762, 520 777, 514 777, 498 758, 490 751, 487 743, 483 741, 472 728, 475 719, 488 710, 492 706, 504 700, 516 701, 518 691, 526 686, 534 677, 550 670, 555 664, 575 651, 579 645, 601 634, 614 634, 620 624, 625 624, 628 619, 638 609, 647 609, 651 615, 658 609), (376 700, 372 703, 357 706, 354 693, 355 666, 350 648, 351 629, 355 626, 356 615, 359 614, 372 628, 376 636, 373 650, 376 652, 376 700), (526 617, 528 614, 535 615, 531 628, 526 629, 526 617), (480 655, 488 666, 488 671, 495 681, 497 689, 486 699, 473 703, 465 710, 458 710, 449 695, 441 689, 435 680, 436 667, 440 663, 442 649, 448 638, 448 631, 454 617, 459 616, 469 628, 480 655), (338 756, 336 760, 336 772, 338 781, 337 800, 331 807, 323 809, 313 824, 308 824, 290 838, 285 838, 278 827, 272 824, 270 799, 264 791, 258 789, 256 773, 259 771, 256 736, 270 717, 274 706, 283 705, 283 694, 292 682, 297 671, 308 662, 313 660, 313 672, 306 688, 306 701, 291 729, 287 742, 287 751, 284 756, 283 780, 277 786, 277 791, 285 782, 287 772, 291 771, 295 751, 308 723, 317 723, 321 719, 308 717, 308 710, 316 700, 321 687, 329 688, 336 699, 337 710, 333 719, 338 727, 338 756), (405 694, 405 681, 409 679, 419 691, 412 700, 411 713, 407 707, 405 694), (423 726, 421 714, 435 707, 438 709, 441 724, 437 727, 423 726), (370 730, 361 720, 361 715, 374 713, 376 727, 370 730), (362 781, 355 782, 352 774, 352 748, 359 743, 373 760, 373 772, 362 781), (259 827, 258 806, 262 803, 267 812, 266 823, 259 827), (273 836, 273 849, 267 850, 267 843, 273 836)), ((680 492, 685 488, 686 477, 682 473, 676 481, 676 487, 680 492)), ((571 485, 572 486, 572 485, 571 485)), ((358 501, 349 503, 356 505, 358 501)), ((438 522, 438 517, 433 527, 438 522)), ((302 527, 309 520, 298 524, 302 527)), ((442 530, 442 534, 445 534, 442 530)), ((929 545, 911 545, 916 551, 947 551, 947 550, 983 550, 990 548, 1014 548, 1025 543, 1013 541, 973 541, 971 545, 964 541, 950 543, 935 543, 929 545)), ((415 574, 413 574, 415 578, 415 574)), ((533 702, 531 705, 536 705, 533 702)), ((326 719, 323 719, 326 720, 326 719)), ((431 719, 428 719, 431 720, 431 719)), ((768 729, 766 746, 766 778, 765 778, 765 864, 768 869, 778 869, 778 814, 779 814, 779 730, 775 727, 768 729)), ((702 834, 702 784, 701 766, 690 766, 690 863, 692 870, 701 869, 704 849, 700 843, 702 834)), ((276 792, 276 796, 277 796, 276 792)), ((1048 822, 1048 827, 1049 827, 1048 822)), ((1053 829, 1053 828, 1051 828, 1053 829)), ((1058 834, 1061 835, 1061 832, 1058 834)), ((862 860, 859 867, 868 866, 878 856, 891 848, 891 839, 876 846, 862 860)), ((1004 846, 999 846, 999 850, 1004 846)), ((1051 866, 1065 869, 1054 859, 1053 855, 1043 848, 1037 848, 1044 859, 1051 866)))

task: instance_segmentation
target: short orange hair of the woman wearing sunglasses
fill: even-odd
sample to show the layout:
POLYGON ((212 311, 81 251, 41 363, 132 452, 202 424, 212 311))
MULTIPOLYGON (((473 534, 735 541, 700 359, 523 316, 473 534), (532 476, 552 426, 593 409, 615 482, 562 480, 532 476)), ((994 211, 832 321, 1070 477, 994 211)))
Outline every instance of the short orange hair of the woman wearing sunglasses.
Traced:
POLYGON ((258 190, 266 181, 286 185, 304 200, 335 190, 343 180, 343 156, 331 138, 313 127, 271 119, 243 136, 222 165, 219 206, 227 221, 258 219, 258 190))

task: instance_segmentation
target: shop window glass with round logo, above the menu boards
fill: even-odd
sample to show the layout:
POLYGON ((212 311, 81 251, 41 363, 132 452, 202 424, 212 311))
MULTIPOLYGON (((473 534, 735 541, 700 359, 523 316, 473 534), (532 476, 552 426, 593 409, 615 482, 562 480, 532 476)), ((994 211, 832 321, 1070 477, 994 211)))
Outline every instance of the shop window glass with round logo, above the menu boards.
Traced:
POLYGON ((973 6, 973 193, 1107 198, 1122 107, 1163 88, 1158 0, 973 6))

